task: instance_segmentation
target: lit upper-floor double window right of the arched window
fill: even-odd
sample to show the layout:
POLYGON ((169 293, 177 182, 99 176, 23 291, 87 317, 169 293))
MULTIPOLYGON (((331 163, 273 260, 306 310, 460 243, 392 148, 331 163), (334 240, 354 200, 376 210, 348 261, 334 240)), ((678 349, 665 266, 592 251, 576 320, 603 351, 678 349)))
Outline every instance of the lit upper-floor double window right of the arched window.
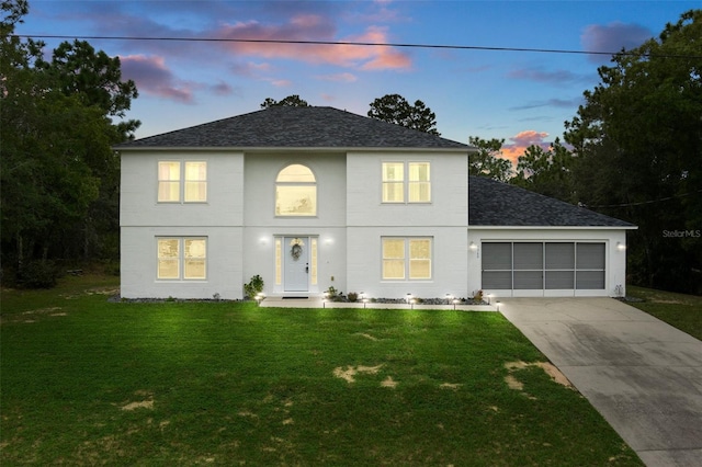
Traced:
POLYGON ((430 203, 429 162, 383 162, 383 203, 430 203))

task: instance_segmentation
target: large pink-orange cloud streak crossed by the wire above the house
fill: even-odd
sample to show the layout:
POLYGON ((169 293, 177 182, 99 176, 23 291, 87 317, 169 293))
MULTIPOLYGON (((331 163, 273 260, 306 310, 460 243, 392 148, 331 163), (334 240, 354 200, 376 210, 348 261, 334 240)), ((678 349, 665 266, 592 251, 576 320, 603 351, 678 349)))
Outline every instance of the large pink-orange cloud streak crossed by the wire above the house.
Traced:
MULTIPOLYGON (((146 2, 148 4, 148 2, 146 2)), ((186 4, 179 3, 176 8, 182 11, 188 10, 186 4)), ((387 44, 389 34, 386 27, 367 26, 355 35, 340 37, 336 21, 338 9, 331 11, 315 5, 315 12, 309 9, 305 13, 292 13, 299 11, 302 5, 295 2, 275 2, 273 10, 275 16, 281 20, 256 21, 246 20, 234 23, 222 22, 224 18, 237 18, 241 14, 235 10, 228 13, 222 12, 215 27, 202 30, 172 29, 150 20, 149 16, 126 14, 118 9, 113 11, 101 11, 93 9, 87 18, 90 18, 101 33, 112 33, 129 36, 145 37, 183 37, 192 39, 239 39, 239 41, 281 41, 281 43, 257 43, 257 42, 214 42, 204 46, 197 41, 193 42, 168 42, 147 41, 138 43, 138 49, 132 48, 132 44, 126 44, 127 48, 138 54, 151 54, 156 56, 169 56, 186 59, 207 60, 222 59, 218 50, 224 49, 235 56, 241 55, 257 57, 259 59, 280 58, 313 64, 335 65, 347 68, 358 68, 365 70, 385 69, 408 69, 411 67, 411 58, 403 50, 390 46, 353 46, 342 44, 302 44, 301 42, 363 42, 371 44, 387 44), (238 13, 235 15, 235 13, 238 13), (285 42, 291 43, 285 43, 285 42), (295 44, 297 42, 297 44, 295 44), (138 50, 138 52, 136 52, 138 50)), ((331 4, 331 3, 330 3, 331 4)), ((370 4, 370 3, 369 3, 370 4)), ((372 8, 380 7, 386 9, 388 2, 376 2, 372 8)), ((271 13, 270 11, 267 11, 271 13)), ((246 13, 245 13, 246 14, 246 13)), ((271 16, 268 14, 267 16, 271 16)), ((386 16, 388 18, 388 16, 386 16)), ((377 23, 364 23, 377 24, 377 23)), ((137 43, 135 43, 137 44, 137 43)), ((224 57, 225 59, 231 57, 224 57)))

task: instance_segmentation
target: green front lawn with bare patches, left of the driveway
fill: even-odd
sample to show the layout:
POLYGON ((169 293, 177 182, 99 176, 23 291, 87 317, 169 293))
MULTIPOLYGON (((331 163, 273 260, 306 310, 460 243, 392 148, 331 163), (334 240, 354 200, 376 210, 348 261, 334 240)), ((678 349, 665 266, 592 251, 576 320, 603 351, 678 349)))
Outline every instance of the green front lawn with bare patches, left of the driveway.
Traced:
POLYGON ((642 465, 495 312, 2 292, 0 463, 642 465))

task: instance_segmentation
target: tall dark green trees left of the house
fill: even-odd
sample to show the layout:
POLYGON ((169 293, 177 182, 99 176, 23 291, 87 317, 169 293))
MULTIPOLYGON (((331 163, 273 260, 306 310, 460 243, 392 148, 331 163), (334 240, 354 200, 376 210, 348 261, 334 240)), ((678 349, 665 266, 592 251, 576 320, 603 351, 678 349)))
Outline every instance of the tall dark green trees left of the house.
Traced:
POLYGON ((134 137, 138 93, 120 59, 88 42, 44 43, 14 27, 26 0, 3 1, 0 21, 2 272, 25 285, 55 282, 53 260, 118 258, 120 159, 134 137))

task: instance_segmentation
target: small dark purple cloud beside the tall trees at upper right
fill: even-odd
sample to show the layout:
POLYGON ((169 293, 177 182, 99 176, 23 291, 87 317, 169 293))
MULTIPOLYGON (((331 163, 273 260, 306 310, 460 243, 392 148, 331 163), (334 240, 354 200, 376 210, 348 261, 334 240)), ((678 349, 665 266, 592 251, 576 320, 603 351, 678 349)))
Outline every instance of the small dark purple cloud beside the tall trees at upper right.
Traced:
MULTIPOLYGON (((582 48, 587 52, 616 53, 622 48, 631 49, 638 47, 654 34, 647 27, 638 24, 625 24, 613 22, 607 25, 591 24, 585 29, 580 35, 582 48)), ((607 62, 609 55, 590 55, 590 61, 607 62)))

